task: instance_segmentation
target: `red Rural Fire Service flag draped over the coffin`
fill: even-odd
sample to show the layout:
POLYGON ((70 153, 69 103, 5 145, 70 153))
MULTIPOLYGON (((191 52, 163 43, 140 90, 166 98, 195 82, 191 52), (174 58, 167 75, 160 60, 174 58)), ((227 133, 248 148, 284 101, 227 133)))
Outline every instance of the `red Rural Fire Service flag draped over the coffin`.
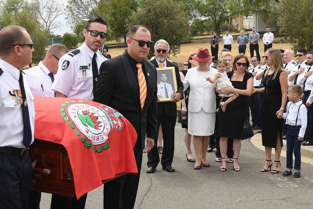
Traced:
POLYGON ((72 167, 76 196, 121 173, 138 173, 137 133, 115 109, 73 98, 35 97, 36 139, 62 144, 72 167))

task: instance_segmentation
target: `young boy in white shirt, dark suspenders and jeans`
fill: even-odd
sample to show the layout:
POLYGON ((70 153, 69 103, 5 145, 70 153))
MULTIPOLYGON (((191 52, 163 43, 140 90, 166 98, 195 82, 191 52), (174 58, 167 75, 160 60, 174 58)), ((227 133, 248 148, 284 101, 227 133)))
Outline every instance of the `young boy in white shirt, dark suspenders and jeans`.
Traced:
POLYGON ((290 102, 287 103, 287 112, 283 114, 287 124, 287 170, 283 176, 292 175, 292 153, 295 155, 294 177, 300 178, 301 170, 301 143, 307 128, 307 108, 302 104, 300 97, 302 88, 299 85, 291 85, 288 87, 287 97, 290 102))

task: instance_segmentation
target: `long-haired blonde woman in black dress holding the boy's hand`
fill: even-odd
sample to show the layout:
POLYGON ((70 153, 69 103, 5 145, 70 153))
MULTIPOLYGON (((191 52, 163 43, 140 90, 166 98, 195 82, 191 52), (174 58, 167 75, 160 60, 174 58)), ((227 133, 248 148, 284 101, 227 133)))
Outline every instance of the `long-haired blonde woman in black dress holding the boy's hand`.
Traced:
POLYGON ((282 151, 283 121, 278 117, 283 115, 287 100, 287 74, 283 68, 283 60, 279 49, 270 48, 265 52, 264 59, 269 68, 264 71, 262 89, 253 92, 264 93, 261 105, 262 145, 265 146, 265 163, 261 172, 269 171, 272 167, 271 153, 275 148, 274 168, 271 173, 278 173, 280 153, 282 151))

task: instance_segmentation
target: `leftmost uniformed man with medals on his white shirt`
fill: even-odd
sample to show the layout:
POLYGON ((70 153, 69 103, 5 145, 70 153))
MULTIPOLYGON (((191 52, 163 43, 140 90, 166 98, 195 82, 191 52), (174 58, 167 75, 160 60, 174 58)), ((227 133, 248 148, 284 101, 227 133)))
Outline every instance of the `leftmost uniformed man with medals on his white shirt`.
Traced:
POLYGON ((0 49, 0 209, 27 209, 35 110, 19 69, 32 63, 33 42, 25 28, 10 25, 0 31, 0 49))

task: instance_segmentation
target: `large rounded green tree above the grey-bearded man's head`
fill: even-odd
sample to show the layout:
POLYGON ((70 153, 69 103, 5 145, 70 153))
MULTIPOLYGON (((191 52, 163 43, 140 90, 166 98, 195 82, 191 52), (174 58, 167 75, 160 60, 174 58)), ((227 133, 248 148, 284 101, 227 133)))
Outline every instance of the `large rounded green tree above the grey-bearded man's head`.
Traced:
MULTIPOLYGON (((147 26, 153 41, 164 39, 169 43, 171 55, 179 53, 180 41, 189 36, 184 5, 174 0, 143 0, 139 7, 139 10, 130 17, 129 27, 136 24, 147 26)), ((153 49, 150 50, 148 57, 152 56, 153 49)))

